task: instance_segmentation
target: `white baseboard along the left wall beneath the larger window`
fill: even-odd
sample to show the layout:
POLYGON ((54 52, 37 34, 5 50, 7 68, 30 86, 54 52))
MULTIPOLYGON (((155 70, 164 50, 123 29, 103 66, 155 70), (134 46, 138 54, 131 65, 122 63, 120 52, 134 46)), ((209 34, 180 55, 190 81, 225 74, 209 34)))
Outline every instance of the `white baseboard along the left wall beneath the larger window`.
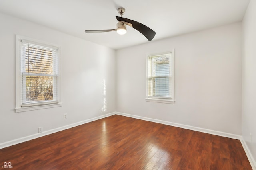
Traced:
POLYGON ((43 137, 43 136, 46 136, 46 135, 50 135, 52 133, 56 133, 56 132, 59 132, 59 131, 63 131, 63 130, 66 130, 66 129, 70 129, 72 127, 76 127, 76 126, 79 126, 79 125, 83 125, 85 123, 89 123, 89 122, 92 122, 92 121, 96 121, 98 119, 103 119, 105 117, 109 117, 109 116, 112 116, 112 115, 115 115, 116 113, 113 112, 113 113, 108 113, 106 115, 101 115, 101 116, 98 116, 98 117, 94 117, 94 118, 91 118, 91 119, 87 119, 87 120, 84 120, 84 121, 80 121, 80 122, 76 122, 76 123, 72 123, 70 125, 66 125, 66 126, 62 126, 62 127, 58 127, 58 128, 55 128, 55 129, 51 129, 49 131, 44 131, 42 133, 36 133, 36 134, 33 134, 33 135, 29 135, 29 136, 26 136, 26 137, 21 137, 21 138, 18 138, 18 139, 14 139, 12 141, 7 141, 7 142, 4 142, 4 143, 0 143, 0 149, 2 148, 6 148, 6 147, 10 147, 12 145, 16 145, 18 143, 22 143, 22 142, 26 142, 26 141, 30 141, 32 139, 36 139, 38 137, 43 137))

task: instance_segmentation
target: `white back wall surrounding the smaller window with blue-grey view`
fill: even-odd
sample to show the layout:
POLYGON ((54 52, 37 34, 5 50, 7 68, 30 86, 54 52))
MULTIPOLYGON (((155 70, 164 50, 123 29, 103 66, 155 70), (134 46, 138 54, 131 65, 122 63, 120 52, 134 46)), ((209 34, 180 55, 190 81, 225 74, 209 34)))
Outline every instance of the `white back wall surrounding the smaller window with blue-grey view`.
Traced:
POLYGON ((241 23, 120 49, 117 111, 241 135, 241 23), (175 104, 146 102, 146 57, 175 49, 175 104))

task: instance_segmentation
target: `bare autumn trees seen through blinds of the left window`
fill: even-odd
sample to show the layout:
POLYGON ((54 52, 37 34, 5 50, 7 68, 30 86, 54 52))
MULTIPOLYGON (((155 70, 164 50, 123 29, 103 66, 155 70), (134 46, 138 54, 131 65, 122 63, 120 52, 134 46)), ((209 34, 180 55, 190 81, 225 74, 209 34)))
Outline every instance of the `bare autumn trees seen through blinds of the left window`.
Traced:
POLYGON ((53 100, 53 51, 28 44, 25 54, 26 101, 53 100))

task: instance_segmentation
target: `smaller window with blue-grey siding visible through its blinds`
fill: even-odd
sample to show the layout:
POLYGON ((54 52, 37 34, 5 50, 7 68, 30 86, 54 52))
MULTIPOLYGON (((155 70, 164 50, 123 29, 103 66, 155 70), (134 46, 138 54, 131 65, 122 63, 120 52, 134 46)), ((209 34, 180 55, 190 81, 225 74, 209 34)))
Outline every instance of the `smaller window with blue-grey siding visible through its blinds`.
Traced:
POLYGON ((174 103, 173 53, 148 56, 146 101, 174 103))

